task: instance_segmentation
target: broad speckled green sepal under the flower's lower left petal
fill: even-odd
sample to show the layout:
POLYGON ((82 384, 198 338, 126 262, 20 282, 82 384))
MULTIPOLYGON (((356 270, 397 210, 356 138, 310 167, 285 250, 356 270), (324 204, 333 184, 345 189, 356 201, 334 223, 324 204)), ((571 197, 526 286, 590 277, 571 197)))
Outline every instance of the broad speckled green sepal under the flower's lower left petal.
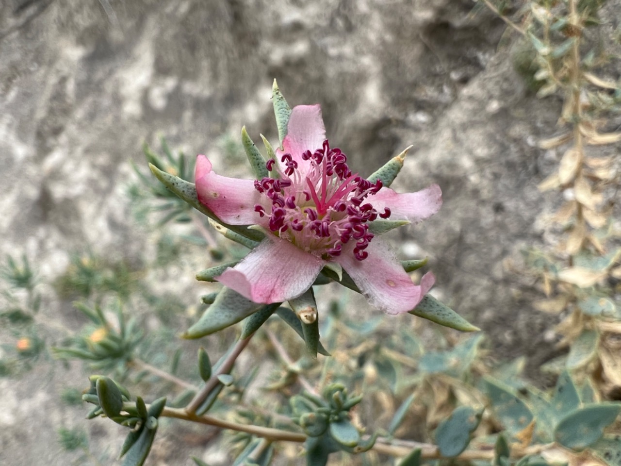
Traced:
POLYGON ((250 314, 255 313, 263 304, 253 303, 250 299, 230 288, 222 288, 214 304, 202 314, 196 324, 183 334, 185 339, 196 339, 230 327, 250 314))

